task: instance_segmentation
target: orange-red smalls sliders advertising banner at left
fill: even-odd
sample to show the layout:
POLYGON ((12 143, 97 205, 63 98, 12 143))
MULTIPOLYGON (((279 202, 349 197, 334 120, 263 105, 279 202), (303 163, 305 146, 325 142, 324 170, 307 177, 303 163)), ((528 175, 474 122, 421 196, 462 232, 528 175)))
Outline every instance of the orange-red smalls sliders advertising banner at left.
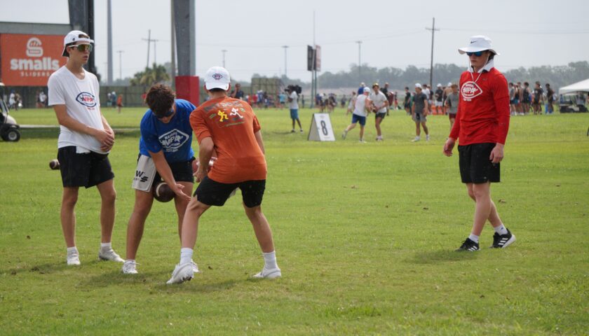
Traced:
POLYGON ((6 86, 46 86, 67 62, 63 36, 0 34, 0 78, 6 86))

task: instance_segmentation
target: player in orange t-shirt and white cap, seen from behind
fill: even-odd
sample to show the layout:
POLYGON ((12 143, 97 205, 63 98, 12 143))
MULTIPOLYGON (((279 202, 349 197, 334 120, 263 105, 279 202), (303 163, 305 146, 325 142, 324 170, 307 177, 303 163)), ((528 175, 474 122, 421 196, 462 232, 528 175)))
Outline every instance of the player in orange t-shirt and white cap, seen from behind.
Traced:
POLYGON ((190 125, 198 139, 200 165, 195 176, 200 184, 184 214, 180 263, 168 284, 192 279, 191 259, 198 220, 211 206, 222 207, 236 188, 241 189, 245 214, 253 225, 264 256, 262 272, 253 277, 274 279, 282 275, 276 264, 270 225, 260 207, 267 172, 262 133, 252 107, 228 96, 230 87, 226 69, 221 66, 208 69, 204 88, 210 99, 190 115, 190 125), (217 153, 217 160, 209 167, 213 151, 217 153))

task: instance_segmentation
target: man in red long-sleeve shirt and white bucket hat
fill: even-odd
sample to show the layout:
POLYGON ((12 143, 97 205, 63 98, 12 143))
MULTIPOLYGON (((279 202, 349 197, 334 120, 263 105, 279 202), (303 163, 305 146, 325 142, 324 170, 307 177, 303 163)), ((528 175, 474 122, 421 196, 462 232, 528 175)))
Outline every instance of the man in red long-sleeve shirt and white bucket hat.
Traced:
POLYGON ((499 55, 487 36, 473 36, 467 47, 459 48, 470 59, 468 71, 460 76, 460 99, 456 123, 444 145, 452 155, 456 139, 460 176, 468 196, 475 203, 473 230, 457 251, 478 251, 479 236, 488 220, 495 230, 492 248, 506 248, 515 236, 501 222, 491 200, 491 182, 500 181, 499 162, 509 129, 509 91, 507 80, 494 68, 499 55))

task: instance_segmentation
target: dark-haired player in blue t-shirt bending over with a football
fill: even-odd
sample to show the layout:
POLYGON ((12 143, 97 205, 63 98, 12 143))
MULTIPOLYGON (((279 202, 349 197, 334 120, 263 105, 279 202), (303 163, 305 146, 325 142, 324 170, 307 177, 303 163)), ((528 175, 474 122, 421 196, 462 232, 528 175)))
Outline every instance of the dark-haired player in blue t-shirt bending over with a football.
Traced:
MULTIPOLYGON (((194 186, 192 176, 192 129, 190 113, 196 107, 175 94, 166 85, 154 85, 145 99, 149 110, 141 119, 141 138, 137 171, 133 179, 135 207, 127 227, 127 255, 124 274, 137 274, 135 255, 143 235, 145 220, 154 204, 151 187, 165 181, 174 191, 178 214, 178 234, 182 229, 184 211, 194 186)), ((193 262, 194 272, 198 272, 193 262)))

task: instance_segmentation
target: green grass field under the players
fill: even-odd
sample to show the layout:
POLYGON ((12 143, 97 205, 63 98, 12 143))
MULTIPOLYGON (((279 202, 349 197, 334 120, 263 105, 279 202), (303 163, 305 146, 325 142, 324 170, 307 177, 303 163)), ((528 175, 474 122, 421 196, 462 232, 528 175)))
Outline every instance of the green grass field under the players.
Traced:
MULTIPOLYGON (((119 134, 114 248, 124 256, 142 109, 104 114, 119 134)), ((502 183, 492 195, 517 236, 505 250, 456 253, 473 202, 458 158, 442 155, 447 117, 428 117, 432 140, 413 144, 404 111, 367 144, 332 114, 337 141, 290 134, 287 109, 257 111, 269 166, 264 213, 283 278, 254 281, 263 265, 240 197, 203 216, 195 261, 203 272, 166 286, 180 254, 175 211, 154 204, 137 255, 140 274, 99 262, 95 188, 81 190, 81 267, 65 265, 61 181, 48 168, 57 130, 0 142, 1 335, 587 335, 589 333, 589 113, 511 119, 502 183)), ((57 125, 53 111, 13 113, 57 125)), ((194 146, 196 148, 196 145, 194 146)), ((493 230, 485 228, 482 246, 493 230)))

